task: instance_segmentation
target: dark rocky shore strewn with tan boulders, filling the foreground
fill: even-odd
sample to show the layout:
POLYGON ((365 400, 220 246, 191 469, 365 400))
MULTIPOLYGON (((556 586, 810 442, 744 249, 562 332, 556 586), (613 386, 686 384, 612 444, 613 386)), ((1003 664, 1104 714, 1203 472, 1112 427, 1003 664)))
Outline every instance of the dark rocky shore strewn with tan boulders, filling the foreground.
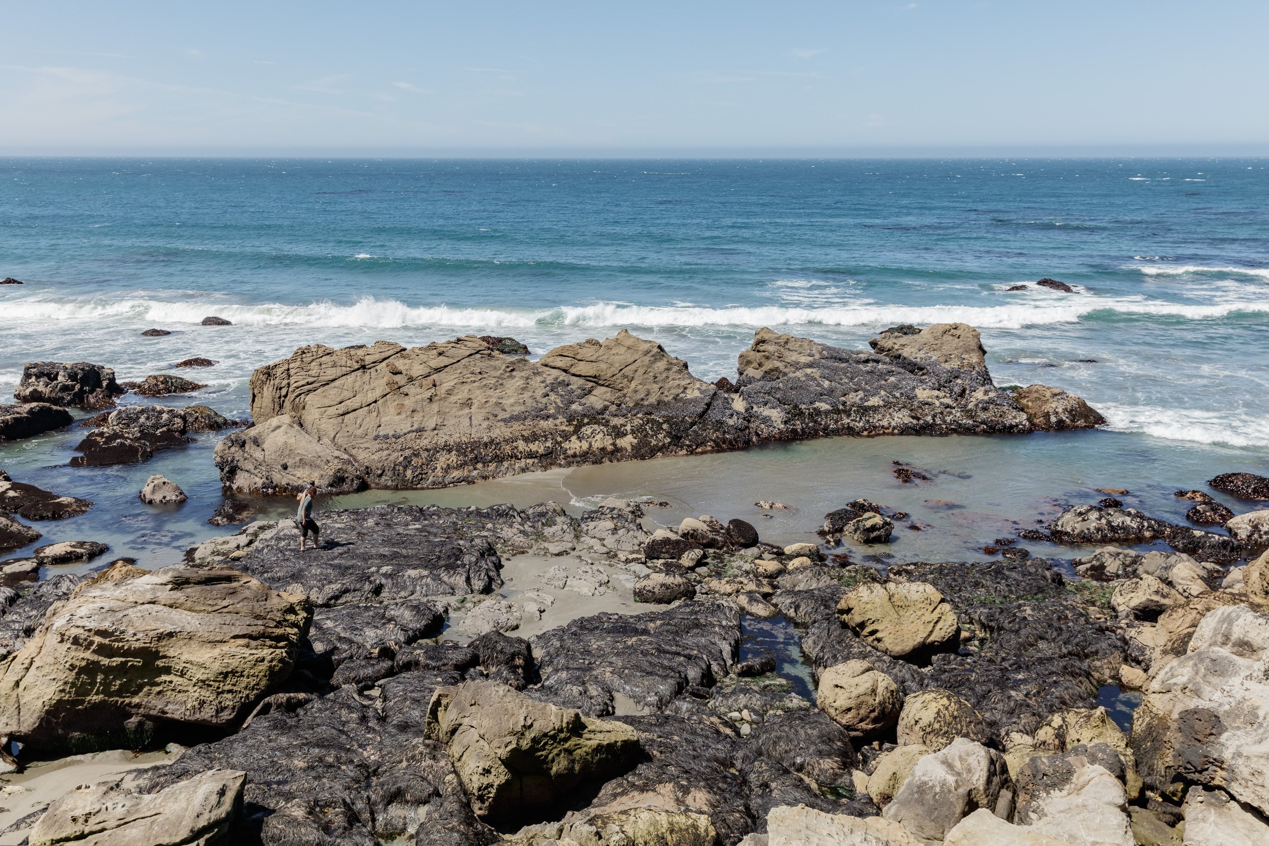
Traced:
POLYGON ((0 616, 0 729, 22 750, 8 766, 175 755, 14 831, 89 842, 103 835, 84 821, 110 808, 91 842, 1269 838, 1260 535, 1195 542, 1077 505, 1023 543, 1121 545, 888 567, 840 554, 904 520, 855 500, 825 516, 824 543, 779 547, 744 520, 657 526, 628 500, 580 517, 374 506, 324 512, 303 554, 292 521, 263 521, 183 566, 34 582, 0 616), (1131 548, 1148 540, 1173 549, 1131 548), (746 646, 761 620, 799 648, 746 646), (811 695, 791 660, 810 665, 811 695), (1123 694, 1140 698, 1131 723, 1098 704, 1105 690, 1140 691, 1123 694))

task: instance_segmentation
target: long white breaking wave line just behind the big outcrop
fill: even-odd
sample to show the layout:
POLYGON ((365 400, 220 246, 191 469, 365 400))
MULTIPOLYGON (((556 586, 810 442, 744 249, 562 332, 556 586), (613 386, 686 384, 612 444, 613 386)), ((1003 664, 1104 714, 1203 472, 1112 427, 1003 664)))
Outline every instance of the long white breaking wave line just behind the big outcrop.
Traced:
MULTIPOLYGON (((1265 271, 1269 273, 1269 271, 1265 271)), ((690 326, 874 326, 893 323, 963 322, 983 329, 1022 329, 1070 323, 1094 312, 1148 315, 1209 320, 1233 313, 1269 313, 1269 299, 1187 304, 1145 298, 1028 298, 1005 306, 893 306, 872 301, 824 306, 637 306, 600 302, 556 308, 462 308, 450 306, 406 306, 396 299, 363 297, 352 304, 320 301, 306 306, 283 303, 232 304, 223 299, 180 302, 143 298, 30 298, 8 299, 0 309, 0 325, 44 321, 118 321, 147 323, 198 323, 208 315, 240 326, 312 327, 690 327, 690 326)))

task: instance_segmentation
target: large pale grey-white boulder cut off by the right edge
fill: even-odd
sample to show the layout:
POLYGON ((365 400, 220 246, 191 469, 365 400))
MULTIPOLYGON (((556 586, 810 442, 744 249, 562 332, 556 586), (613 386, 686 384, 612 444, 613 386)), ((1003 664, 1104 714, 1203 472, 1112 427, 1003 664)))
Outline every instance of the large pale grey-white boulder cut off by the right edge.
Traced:
POLYGON ((1147 786, 1179 776, 1269 812, 1266 657, 1269 616, 1233 605, 1203 618, 1188 654, 1155 676, 1133 717, 1147 786))

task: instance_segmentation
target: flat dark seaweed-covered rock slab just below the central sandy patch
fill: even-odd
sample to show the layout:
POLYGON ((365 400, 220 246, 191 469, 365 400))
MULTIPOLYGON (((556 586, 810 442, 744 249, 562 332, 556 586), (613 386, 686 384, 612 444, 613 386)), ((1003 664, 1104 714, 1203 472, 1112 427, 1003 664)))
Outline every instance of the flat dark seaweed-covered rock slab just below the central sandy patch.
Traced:
POLYGON ((664 611, 579 618, 532 643, 542 698, 602 717, 615 710, 619 693, 664 710, 685 689, 728 674, 740 614, 733 602, 697 599, 664 611))

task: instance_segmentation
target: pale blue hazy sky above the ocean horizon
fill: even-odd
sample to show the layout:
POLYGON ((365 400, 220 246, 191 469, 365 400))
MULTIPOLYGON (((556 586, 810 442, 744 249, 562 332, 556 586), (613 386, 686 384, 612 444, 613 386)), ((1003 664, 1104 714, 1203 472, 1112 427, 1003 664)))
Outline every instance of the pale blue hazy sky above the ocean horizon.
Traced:
POLYGON ((1269 153, 1269 3, 20 3, 3 155, 1269 153))

